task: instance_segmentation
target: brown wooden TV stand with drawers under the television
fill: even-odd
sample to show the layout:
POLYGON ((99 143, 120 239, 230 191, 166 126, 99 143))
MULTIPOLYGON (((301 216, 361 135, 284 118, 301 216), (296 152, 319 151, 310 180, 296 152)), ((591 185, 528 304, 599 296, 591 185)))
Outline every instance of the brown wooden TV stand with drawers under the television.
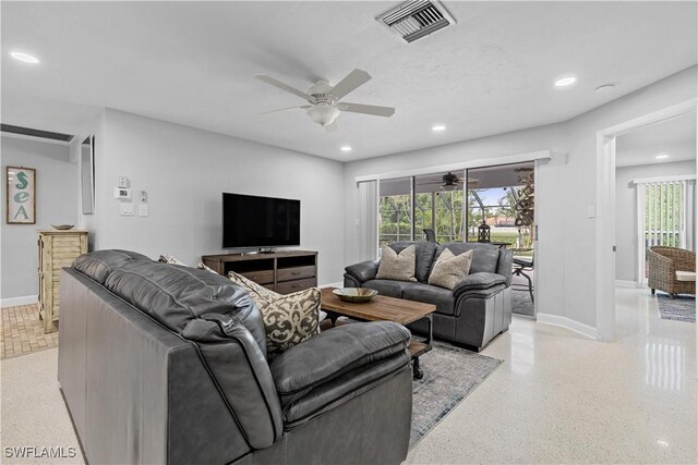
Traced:
POLYGON ((317 252, 204 255, 204 265, 225 277, 234 271, 279 294, 317 285, 317 252))

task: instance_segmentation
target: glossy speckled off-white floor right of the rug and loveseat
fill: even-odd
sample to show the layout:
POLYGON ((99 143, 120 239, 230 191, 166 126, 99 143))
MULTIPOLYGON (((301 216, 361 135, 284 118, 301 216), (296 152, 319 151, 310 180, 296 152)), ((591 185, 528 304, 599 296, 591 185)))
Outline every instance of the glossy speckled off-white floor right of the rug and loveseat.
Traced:
POLYGON ((614 343, 515 318, 484 355, 505 362, 409 463, 695 464, 696 326, 648 290, 616 291, 614 343))

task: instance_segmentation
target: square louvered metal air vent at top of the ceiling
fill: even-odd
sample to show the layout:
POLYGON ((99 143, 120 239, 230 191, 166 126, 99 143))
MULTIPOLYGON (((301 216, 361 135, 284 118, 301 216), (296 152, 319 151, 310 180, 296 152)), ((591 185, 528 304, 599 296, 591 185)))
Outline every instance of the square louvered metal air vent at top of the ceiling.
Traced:
POLYGON ((407 42, 456 24, 456 20, 436 0, 406 1, 376 16, 376 21, 399 34, 407 42))

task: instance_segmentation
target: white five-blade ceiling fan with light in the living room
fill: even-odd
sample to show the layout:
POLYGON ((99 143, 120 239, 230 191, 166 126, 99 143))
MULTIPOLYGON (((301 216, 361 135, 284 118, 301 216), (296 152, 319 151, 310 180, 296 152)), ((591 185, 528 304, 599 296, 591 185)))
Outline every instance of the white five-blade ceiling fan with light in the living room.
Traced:
MULTIPOLYGON (((374 117, 392 117, 395 113, 395 108, 392 107, 378 107, 375 105, 362 105, 362 103, 347 103, 339 100, 347 94, 356 90, 359 86, 365 84, 371 75, 363 70, 353 70, 337 85, 330 86, 327 79, 317 81, 308 93, 296 89, 288 84, 285 84, 278 79, 266 74, 257 74, 257 79, 278 87, 281 90, 286 90, 308 101, 310 105, 303 105, 300 107, 282 108, 280 110, 267 111, 265 113, 274 113, 277 111, 302 109, 305 110, 308 115, 317 124, 325 127, 328 131, 336 131, 339 129, 337 124, 337 117, 342 111, 351 113, 372 114, 374 117)), ((264 113, 263 113, 264 114, 264 113)))

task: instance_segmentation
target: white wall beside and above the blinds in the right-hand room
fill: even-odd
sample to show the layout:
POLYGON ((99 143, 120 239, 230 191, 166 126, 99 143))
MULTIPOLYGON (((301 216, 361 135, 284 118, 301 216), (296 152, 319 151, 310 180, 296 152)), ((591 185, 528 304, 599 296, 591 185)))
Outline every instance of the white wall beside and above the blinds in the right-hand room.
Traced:
MULTIPOLYGON (((675 152, 675 150, 671 150, 675 152)), ((694 147, 694 157, 695 157, 694 147)), ((615 279, 637 281, 637 208, 636 185, 633 180, 642 178, 696 174, 695 161, 653 163, 624 167, 615 170, 615 279)))

